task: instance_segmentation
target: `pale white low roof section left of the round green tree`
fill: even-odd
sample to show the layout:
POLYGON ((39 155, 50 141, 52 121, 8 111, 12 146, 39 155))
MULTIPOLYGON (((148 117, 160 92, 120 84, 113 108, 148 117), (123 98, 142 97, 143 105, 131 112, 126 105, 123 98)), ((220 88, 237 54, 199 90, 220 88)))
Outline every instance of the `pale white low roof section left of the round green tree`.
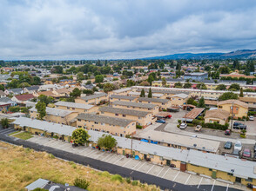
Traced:
POLYGON ((55 122, 46 122, 46 121, 40 121, 37 119, 30 119, 27 117, 18 117, 14 122, 14 124, 17 124, 21 127, 30 127, 30 128, 36 128, 39 130, 57 133, 58 135, 67 135, 71 136, 73 131, 76 129, 75 127, 71 127, 69 125, 62 125, 55 122))

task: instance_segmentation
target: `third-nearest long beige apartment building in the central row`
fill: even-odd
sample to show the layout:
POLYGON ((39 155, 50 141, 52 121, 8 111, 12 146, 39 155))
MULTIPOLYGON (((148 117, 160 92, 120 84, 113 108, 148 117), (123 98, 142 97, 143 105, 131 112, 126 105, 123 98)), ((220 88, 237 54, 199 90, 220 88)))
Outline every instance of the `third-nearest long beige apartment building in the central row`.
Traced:
POLYGON ((122 102, 116 101, 112 103, 113 108, 120 109, 133 109, 139 111, 151 112, 152 115, 156 115, 159 112, 158 105, 150 104, 150 103, 141 103, 141 102, 122 102))

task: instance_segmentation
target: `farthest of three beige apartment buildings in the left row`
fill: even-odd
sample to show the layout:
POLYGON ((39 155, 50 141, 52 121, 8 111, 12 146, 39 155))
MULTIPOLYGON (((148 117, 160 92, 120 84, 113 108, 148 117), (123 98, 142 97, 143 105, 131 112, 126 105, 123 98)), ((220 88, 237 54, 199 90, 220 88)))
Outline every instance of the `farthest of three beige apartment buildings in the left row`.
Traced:
POLYGON ((108 101, 108 95, 105 93, 87 95, 87 96, 78 97, 77 99, 75 99, 75 102, 77 103, 92 104, 92 105, 98 105, 100 102, 107 102, 107 101, 108 101))

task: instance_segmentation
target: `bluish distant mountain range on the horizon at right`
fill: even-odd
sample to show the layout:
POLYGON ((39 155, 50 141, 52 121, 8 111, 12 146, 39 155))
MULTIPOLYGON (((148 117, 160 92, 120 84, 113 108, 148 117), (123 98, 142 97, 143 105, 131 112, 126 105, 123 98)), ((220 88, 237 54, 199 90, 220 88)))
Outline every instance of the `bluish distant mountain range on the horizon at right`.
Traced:
POLYGON ((256 58, 256 49, 238 49, 229 53, 184 53, 184 54, 174 54, 167 56, 154 56, 143 58, 145 60, 176 60, 176 59, 250 59, 256 58))

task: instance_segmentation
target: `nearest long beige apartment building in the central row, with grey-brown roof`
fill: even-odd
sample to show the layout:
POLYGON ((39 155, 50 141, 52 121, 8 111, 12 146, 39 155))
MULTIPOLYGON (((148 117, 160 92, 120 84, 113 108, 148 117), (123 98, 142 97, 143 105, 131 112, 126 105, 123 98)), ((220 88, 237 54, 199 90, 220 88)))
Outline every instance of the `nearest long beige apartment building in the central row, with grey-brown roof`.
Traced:
POLYGON ((136 122, 134 120, 104 115, 79 114, 77 115, 77 127, 118 136, 134 135, 136 133, 136 122))

